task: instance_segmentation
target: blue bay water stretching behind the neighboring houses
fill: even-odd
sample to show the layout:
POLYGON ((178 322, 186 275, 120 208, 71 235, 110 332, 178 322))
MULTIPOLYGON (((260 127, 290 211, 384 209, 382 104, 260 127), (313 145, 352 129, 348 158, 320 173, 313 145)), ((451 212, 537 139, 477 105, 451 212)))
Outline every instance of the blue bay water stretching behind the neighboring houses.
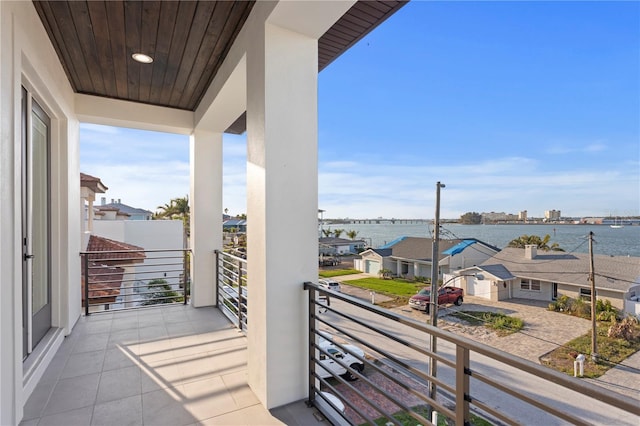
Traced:
MULTIPOLYGON (((367 242, 371 247, 380 247, 396 238, 431 237, 432 224, 338 224, 324 225, 325 229, 357 231, 356 239, 367 242)), ((608 256, 640 257, 640 226, 611 228, 609 225, 461 225, 447 223, 441 225, 440 238, 476 238, 500 249, 509 241, 521 235, 550 235, 549 245, 558 243, 566 252, 588 253, 589 232, 594 234, 594 254, 608 256)), ((342 234, 343 238, 347 238, 342 234)))

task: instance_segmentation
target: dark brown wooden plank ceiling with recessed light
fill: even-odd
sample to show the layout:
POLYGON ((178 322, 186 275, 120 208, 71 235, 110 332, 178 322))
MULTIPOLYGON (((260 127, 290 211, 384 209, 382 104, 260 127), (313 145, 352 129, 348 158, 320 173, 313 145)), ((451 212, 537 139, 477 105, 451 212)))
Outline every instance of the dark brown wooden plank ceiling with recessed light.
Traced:
MULTIPOLYGON (((194 111, 255 1, 33 3, 76 93, 194 111)), ((319 40, 319 70, 405 3, 356 2, 319 40)), ((244 132, 244 121, 228 131, 244 132)))

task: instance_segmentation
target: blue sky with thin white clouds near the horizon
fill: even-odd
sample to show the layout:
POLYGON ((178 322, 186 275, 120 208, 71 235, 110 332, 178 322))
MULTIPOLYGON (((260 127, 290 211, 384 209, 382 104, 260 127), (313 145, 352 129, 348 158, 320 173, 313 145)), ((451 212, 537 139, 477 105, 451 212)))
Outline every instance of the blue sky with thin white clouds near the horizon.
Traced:
MULTIPOLYGON (((640 215, 640 3, 421 2, 319 75, 325 218, 640 215)), ((246 139, 224 201, 246 212, 246 139)), ((81 169, 155 211, 189 192, 188 137, 83 124, 81 169)))

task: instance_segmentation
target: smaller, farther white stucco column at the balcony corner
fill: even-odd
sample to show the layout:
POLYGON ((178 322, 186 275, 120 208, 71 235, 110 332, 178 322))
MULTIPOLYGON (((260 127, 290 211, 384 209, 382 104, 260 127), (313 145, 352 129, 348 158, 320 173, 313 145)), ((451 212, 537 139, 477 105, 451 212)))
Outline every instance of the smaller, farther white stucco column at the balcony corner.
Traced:
POLYGON ((222 249, 222 133, 196 129, 190 138, 191 304, 216 302, 215 254, 222 249))

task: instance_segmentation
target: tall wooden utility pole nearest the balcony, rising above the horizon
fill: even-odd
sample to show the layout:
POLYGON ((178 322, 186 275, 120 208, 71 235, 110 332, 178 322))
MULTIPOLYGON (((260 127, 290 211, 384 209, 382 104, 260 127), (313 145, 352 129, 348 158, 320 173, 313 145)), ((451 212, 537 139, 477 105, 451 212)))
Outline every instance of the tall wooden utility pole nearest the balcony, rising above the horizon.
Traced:
MULTIPOLYGON (((429 302, 429 323, 437 327, 438 326, 438 270, 439 268, 439 243, 440 243, 440 188, 444 188, 443 183, 436 183, 436 214, 433 224, 433 243, 431 246, 431 298, 429 302)), ((437 350, 437 338, 435 335, 431 334, 429 338, 429 350, 433 353, 436 353, 437 350)), ((431 357, 429 361, 429 377, 435 379, 437 374, 437 360, 435 357, 431 357)), ((432 400, 436 400, 436 382, 433 380, 429 381, 429 398, 432 400)), ((433 411, 433 408, 430 407, 429 412, 431 413, 431 422, 437 424, 437 413, 433 411)))

